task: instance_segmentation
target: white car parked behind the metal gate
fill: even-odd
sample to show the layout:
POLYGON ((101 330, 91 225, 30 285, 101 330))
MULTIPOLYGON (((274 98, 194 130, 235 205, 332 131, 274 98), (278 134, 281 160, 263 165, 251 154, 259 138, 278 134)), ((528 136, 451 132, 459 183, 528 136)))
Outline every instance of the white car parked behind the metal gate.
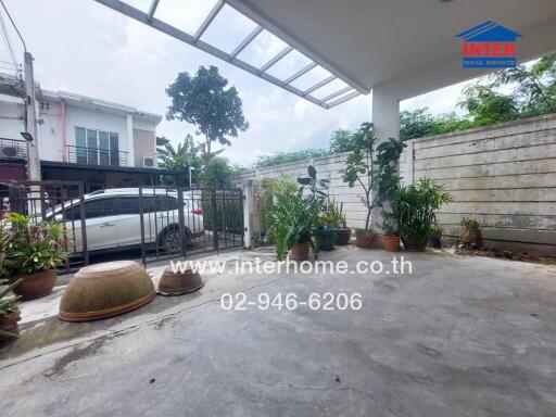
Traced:
MULTIPOLYGON (((204 233, 200 191, 184 191, 184 226, 187 242, 204 233)), ((141 216, 138 188, 114 188, 84 197, 87 250, 98 251, 140 245, 141 216)), ((179 201, 176 190, 147 188, 141 195, 144 243, 179 250, 179 201)), ((79 200, 56 205, 47 220, 64 222, 75 250, 83 250, 79 200)))

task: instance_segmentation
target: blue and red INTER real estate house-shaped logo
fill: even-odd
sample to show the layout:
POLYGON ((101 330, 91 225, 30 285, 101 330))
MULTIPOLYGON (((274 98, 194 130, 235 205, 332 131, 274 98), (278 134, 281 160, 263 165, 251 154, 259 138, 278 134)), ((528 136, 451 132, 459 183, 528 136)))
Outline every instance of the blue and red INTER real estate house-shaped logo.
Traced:
POLYGON ((456 35, 464 40, 464 68, 513 68, 521 35, 492 21, 456 35))

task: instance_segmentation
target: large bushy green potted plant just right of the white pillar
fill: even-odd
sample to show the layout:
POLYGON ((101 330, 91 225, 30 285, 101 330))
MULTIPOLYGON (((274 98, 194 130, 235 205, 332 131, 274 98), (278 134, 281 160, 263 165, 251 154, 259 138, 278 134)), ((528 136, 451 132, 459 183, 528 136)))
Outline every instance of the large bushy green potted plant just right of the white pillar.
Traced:
POLYGON ((392 218, 406 251, 425 251, 435 223, 435 211, 452 201, 444 187, 427 178, 399 187, 392 200, 392 218))

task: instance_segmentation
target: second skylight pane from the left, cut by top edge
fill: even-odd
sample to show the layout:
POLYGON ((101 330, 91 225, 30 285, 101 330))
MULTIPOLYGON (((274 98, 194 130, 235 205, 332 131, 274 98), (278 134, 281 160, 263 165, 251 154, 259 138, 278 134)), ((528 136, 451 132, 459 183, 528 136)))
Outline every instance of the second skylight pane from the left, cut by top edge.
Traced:
POLYGON ((154 17, 186 34, 194 35, 216 2, 216 0, 160 0, 154 17))

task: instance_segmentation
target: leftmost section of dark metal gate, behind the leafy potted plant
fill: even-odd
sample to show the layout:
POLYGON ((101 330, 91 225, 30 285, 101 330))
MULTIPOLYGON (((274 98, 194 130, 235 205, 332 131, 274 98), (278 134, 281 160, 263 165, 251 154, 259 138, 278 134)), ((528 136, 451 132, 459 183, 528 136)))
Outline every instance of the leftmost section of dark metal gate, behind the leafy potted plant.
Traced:
POLYGON ((0 199, 2 218, 5 213, 16 212, 28 216, 29 223, 60 222, 64 225, 62 244, 68 256, 61 271, 71 273, 89 264, 83 182, 1 182, 0 199))

